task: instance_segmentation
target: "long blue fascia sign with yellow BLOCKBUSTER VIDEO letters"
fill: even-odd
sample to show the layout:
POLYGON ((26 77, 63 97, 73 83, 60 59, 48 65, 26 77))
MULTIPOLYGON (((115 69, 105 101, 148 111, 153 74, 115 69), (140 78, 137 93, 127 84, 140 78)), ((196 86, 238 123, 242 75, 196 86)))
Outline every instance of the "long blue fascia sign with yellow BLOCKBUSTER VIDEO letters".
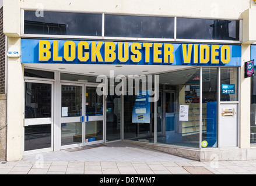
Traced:
POLYGON ((240 45, 22 39, 22 63, 241 66, 240 45))

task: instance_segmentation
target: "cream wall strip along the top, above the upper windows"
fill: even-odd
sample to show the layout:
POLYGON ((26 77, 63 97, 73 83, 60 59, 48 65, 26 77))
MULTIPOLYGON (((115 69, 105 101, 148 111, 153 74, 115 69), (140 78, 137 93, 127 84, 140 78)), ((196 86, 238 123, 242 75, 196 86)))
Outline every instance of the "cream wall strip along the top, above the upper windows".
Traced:
MULTIPOLYGON (((15 0, 16 1, 16 0, 15 0)), ((253 1, 253 0, 251 0, 253 1)), ((129 13, 143 15, 168 15, 192 17, 223 17, 225 19, 241 18, 241 12, 250 8, 248 0, 59 0, 59 1, 21 1, 23 8, 52 9, 69 11, 89 11, 104 13, 129 13)))

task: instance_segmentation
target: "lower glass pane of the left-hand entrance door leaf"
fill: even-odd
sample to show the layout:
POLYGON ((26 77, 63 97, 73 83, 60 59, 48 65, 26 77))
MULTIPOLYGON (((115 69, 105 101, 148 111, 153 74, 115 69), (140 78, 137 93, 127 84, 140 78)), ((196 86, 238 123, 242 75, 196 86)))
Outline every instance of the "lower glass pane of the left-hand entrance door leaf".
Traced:
POLYGON ((82 123, 61 123, 61 145, 82 143, 82 123))

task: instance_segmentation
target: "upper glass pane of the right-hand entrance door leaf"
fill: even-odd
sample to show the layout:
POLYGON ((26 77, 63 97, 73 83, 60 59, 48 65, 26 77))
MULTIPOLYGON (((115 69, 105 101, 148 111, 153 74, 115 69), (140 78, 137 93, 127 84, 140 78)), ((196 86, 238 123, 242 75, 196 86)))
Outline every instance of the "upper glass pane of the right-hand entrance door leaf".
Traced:
POLYGON ((97 95, 97 87, 86 87, 86 116, 103 115, 103 96, 97 95))

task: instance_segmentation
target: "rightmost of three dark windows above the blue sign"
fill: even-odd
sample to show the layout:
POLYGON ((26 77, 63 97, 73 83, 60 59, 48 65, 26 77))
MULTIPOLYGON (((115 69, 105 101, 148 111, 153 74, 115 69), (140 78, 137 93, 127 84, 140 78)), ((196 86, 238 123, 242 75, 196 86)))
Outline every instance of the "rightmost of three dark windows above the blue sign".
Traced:
POLYGON ((239 41, 239 20, 177 18, 177 38, 239 41))

